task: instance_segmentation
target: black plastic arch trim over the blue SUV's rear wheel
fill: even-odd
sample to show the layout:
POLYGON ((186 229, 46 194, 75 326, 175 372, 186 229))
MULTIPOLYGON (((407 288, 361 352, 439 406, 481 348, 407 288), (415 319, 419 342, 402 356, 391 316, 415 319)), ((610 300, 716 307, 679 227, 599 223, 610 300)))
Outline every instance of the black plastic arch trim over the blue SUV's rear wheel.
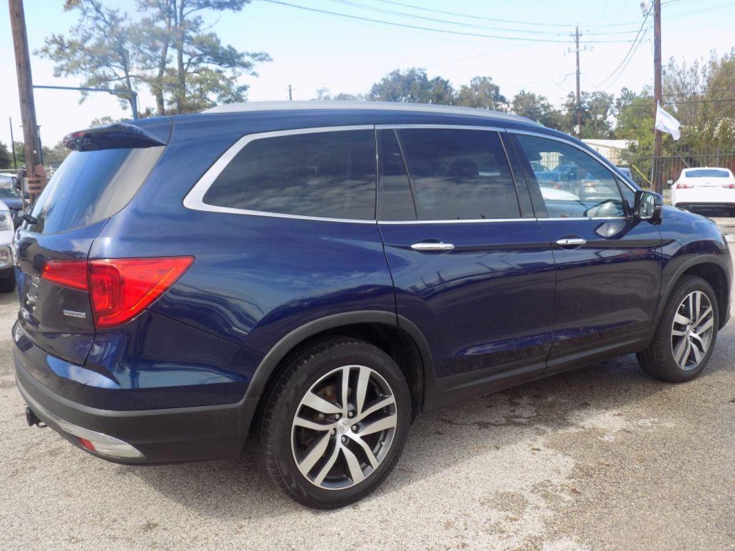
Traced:
MULTIPOLYGON (((265 392, 268 381, 270 381, 270 376, 273 375, 276 368, 279 367, 279 364, 287 354, 301 342, 304 342, 306 339, 320 334, 323 331, 329 331, 329 329, 336 329, 347 325, 357 325, 361 323, 390 325, 391 327, 405 331, 416 345, 421 358, 421 363, 423 364, 423 373, 421 373, 420 379, 423 382, 426 381, 426 378, 433 377, 434 364, 431 359, 429 344, 426 342, 426 338, 423 336, 423 333, 421 333, 420 329, 417 328, 414 323, 406 319, 406 317, 396 314, 395 311, 348 311, 340 314, 331 314, 329 316, 319 317, 316 320, 304 323, 304 325, 300 325, 298 328, 295 328, 293 331, 283 336, 279 342, 276 342, 276 344, 268 350, 268 353, 265 354, 262 361, 260 361, 252 380, 248 384, 248 389, 245 391, 245 402, 252 404, 259 402, 263 392, 265 392)), ((422 384, 422 400, 423 395, 426 393, 425 387, 426 384, 422 384)))

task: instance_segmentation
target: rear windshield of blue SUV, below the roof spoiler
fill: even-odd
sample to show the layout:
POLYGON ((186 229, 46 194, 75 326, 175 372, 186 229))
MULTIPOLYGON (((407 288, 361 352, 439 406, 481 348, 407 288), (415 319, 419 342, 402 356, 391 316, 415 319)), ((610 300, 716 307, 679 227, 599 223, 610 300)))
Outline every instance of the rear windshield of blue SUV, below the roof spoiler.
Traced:
POLYGON ((53 234, 114 215, 135 195, 163 149, 72 151, 33 206, 38 222, 29 231, 53 234))

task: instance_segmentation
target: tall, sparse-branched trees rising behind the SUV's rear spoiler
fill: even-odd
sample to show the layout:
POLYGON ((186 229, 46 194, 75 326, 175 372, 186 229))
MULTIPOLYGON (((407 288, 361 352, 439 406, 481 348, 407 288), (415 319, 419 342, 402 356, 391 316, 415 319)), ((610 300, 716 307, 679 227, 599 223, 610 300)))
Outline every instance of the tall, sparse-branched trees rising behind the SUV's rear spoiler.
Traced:
POLYGON ((245 101, 241 77, 257 76, 257 63, 270 57, 223 45, 201 14, 239 12, 249 1, 137 0, 133 17, 102 0, 65 0, 65 10, 79 13, 71 37, 51 35, 36 53, 55 63, 57 76, 82 76, 85 87, 148 87, 157 115, 245 101))

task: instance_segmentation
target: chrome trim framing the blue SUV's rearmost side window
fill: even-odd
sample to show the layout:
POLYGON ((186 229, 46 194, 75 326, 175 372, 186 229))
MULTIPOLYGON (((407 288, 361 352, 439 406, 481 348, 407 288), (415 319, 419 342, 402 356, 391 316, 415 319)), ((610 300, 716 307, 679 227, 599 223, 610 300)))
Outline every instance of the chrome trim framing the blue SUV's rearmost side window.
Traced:
POLYGON ((346 132, 349 130, 374 130, 373 124, 359 124, 354 126, 318 126, 315 128, 301 128, 292 130, 275 130, 273 132, 259 132, 257 134, 247 134, 237 140, 225 151, 214 165, 209 167, 207 172, 194 184, 194 187, 184 197, 184 206, 187 209, 200 210, 204 212, 223 212, 231 215, 250 215, 250 216, 266 216, 273 218, 293 218, 295 220, 318 220, 320 222, 348 222, 356 224, 375 224, 376 220, 358 220, 354 218, 330 218, 320 216, 306 215, 288 215, 282 212, 268 212, 250 209, 236 209, 231 206, 217 206, 204 203, 204 195, 209 187, 215 182, 222 171, 232 162, 234 156, 245 148, 248 143, 255 140, 265 140, 270 137, 295 136, 298 134, 316 134, 322 132, 346 132))

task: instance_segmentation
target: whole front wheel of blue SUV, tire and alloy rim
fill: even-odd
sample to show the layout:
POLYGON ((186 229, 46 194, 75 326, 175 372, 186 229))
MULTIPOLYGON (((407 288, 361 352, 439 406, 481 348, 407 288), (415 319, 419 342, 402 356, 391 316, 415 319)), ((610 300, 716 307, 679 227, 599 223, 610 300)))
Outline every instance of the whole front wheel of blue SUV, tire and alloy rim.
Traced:
POLYGON ((714 290, 702 278, 685 275, 671 292, 650 345, 638 353, 639 364, 663 381, 691 381, 712 355, 718 326, 714 290))

